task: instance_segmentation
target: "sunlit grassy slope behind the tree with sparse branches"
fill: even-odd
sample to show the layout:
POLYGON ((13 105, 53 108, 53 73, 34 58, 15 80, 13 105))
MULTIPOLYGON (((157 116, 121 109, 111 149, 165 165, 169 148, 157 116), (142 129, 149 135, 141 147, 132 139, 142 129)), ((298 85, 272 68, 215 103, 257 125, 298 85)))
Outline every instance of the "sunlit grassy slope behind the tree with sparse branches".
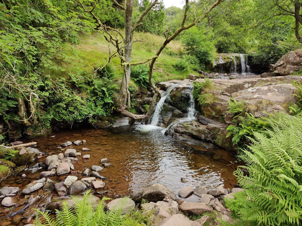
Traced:
MULTIPOLYGON (((164 41, 161 36, 156 36, 150 33, 135 33, 133 40, 140 39, 143 42, 133 43, 132 62, 137 62, 155 55, 157 49, 164 41)), ((89 36, 82 36, 79 45, 70 48, 69 55, 70 62, 64 62, 60 65, 65 71, 46 71, 52 77, 69 77, 69 73, 82 71, 88 75, 92 75, 94 67, 102 66, 108 59, 108 49, 111 48, 112 52, 114 47, 108 45, 104 37, 100 33, 92 33, 89 36)), ((162 82, 167 80, 179 79, 183 80, 188 78, 189 73, 194 73, 192 70, 179 71, 172 65, 177 63, 180 58, 165 54, 165 52, 174 52, 175 55, 180 55, 184 51, 182 44, 179 41, 172 41, 166 47, 162 54, 156 60, 153 69, 153 77, 155 82, 162 82)), ((110 62, 114 68, 117 80, 121 80, 123 75, 123 68, 120 66, 118 57, 114 57, 110 62)), ((130 85, 134 85, 130 82, 130 85)))

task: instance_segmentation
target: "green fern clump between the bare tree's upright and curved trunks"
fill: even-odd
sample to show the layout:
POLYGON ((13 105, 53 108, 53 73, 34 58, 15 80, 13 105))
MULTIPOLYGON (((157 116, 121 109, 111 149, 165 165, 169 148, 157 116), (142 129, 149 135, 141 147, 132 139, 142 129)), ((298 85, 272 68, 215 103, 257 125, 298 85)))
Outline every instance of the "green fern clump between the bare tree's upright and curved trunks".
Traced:
POLYGON ((146 64, 139 64, 131 67, 130 77, 138 85, 150 89, 149 67, 146 64))

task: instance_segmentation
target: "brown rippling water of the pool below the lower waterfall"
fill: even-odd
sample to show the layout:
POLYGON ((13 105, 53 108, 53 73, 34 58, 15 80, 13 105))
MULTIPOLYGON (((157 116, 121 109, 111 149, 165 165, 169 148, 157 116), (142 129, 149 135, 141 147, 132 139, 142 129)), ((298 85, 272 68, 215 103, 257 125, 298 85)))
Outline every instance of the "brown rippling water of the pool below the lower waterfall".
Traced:
MULTIPOLYGON (((135 125, 127 125, 108 130, 69 130, 52 135, 56 137, 37 138, 26 142, 36 141, 41 152, 51 155, 61 152, 56 147, 63 142, 86 140, 83 145, 68 147, 77 149, 78 152, 82 152, 83 147, 91 149, 82 152, 82 155, 90 154, 90 159, 83 160, 82 156, 78 156, 80 161, 72 162, 75 167, 72 175, 79 179, 85 177, 82 172, 86 168, 100 165, 102 158, 108 158, 112 166, 100 171, 101 175, 108 178, 104 180, 106 185, 102 189, 108 190, 105 194, 108 197, 127 196, 156 183, 165 185, 176 194, 187 185, 193 188, 198 186, 213 188, 218 185, 231 188, 237 184, 232 175, 237 166, 231 164, 236 160, 233 153, 220 148, 204 149, 201 146, 178 143, 165 136, 159 127, 155 130, 141 131, 135 125), (215 160, 213 158, 215 153, 220 153, 222 159, 215 160), (181 178, 185 178, 187 182, 182 183, 181 178)), ((43 162, 46 156, 43 155, 37 162, 43 162)), ((38 169, 35 163, 30 167, 33 170, 22 171, 17 176, 10 176, 2 181, 1 187, 9 184, 22 189, 33 179, 38 179, 40 171, 45 171, 44 168, 38 169), (26 174, 27 177, 22 178, 22 174, 26 174)), ((68 175, 70 174, 50 179, 63 181, 68 175)), ((193 195, 187 200, 198 201, 199 198, 193 195)))

